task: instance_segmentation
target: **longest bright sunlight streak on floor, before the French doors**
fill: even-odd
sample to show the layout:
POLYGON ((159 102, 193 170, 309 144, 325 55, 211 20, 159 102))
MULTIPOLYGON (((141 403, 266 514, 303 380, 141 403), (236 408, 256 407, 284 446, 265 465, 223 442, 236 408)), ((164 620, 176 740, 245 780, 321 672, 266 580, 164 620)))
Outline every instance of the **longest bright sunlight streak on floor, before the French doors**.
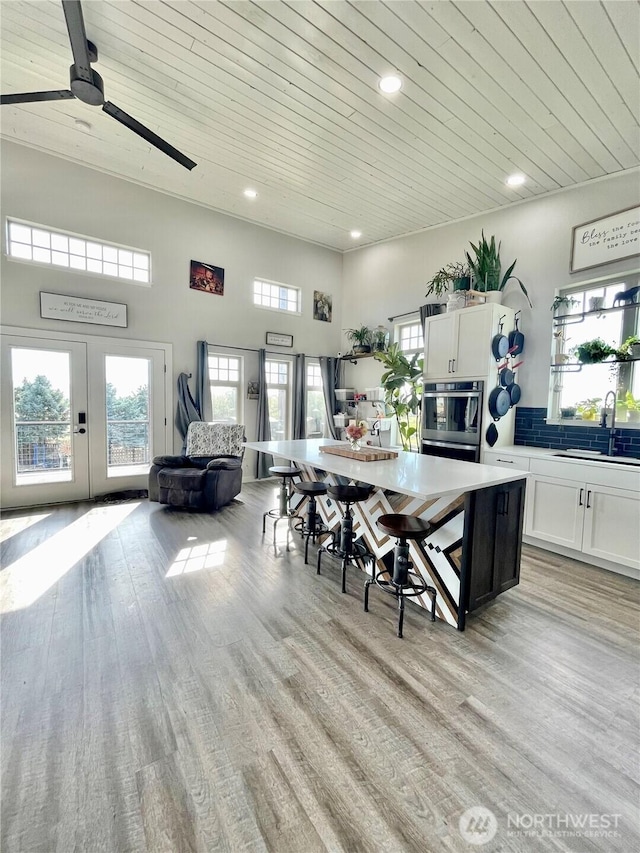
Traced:
POLYGON ((0 613, 29 607, 123 521, 140 501, 100 507, 58 531, 0 574, 0 613))

